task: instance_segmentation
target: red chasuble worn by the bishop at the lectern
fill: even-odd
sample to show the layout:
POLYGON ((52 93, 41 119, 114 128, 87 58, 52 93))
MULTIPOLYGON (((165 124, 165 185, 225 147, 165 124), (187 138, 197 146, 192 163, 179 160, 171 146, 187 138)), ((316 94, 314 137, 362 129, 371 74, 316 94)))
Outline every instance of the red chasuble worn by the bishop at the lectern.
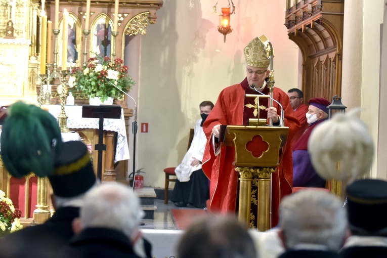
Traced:
MULTIPOLYGON (((269 93, 267 87, 263 93, 269 93)), ((247 102, 253 103, 254 98, 245 98, 245 94, 257 94, 249 88, 247 78, 239 84, 224 89, 203 124, 207 144, 204 150, 202 169, 210 180, 210 203, 207 208, 213 213, 235 213, 238 173, 232 164, 235 161, 235 148, 222 145, 220 154, 215 156, 211 143, 211 130, 217 124, 246 125, 248 118, 254 118, 253 109, 244 106, 247 102)), ((284 108, 285 126, 289 127, 288 143, 290 143, 291 138, 299 128, 299 122, 286 93, 274 88, 273 98, 280 102, 284 108)), ((264 105, 266 106, 266 104, 264 105)), ((280 114, 281 108, 278 107, 278 104, 273 102, 273 106, 280 114)), ((266 118, 266 116, 267 113, 261 110, 260 118, 266 118)), ((291 146, 286 144, 280 166, 272 176, 272 227, 278 224, 278 207, 281 198, 291 193, 292 167, 291 146)))

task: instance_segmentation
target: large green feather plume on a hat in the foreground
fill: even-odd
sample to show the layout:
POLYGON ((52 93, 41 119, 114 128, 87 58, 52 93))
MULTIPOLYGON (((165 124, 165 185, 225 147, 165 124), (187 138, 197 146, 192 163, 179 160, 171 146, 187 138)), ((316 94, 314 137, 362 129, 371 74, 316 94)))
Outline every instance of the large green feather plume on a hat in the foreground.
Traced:
POLYGON ((0 144, 4 165, 12 176, 20 178, 31 171, 38 177, 51 176, 62 149, 61 131, 49 112, 19 101, 8 110, 0 144))

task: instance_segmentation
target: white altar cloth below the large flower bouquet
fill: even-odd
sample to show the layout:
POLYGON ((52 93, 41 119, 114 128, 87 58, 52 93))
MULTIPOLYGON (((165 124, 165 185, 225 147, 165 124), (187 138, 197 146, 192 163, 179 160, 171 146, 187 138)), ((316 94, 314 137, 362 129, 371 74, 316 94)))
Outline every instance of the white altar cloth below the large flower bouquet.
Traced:
MULTIPOLYGON (((58 119, 58 115, 61 111, 60 105, 50 105, 49 112, 58 119)), ((68 116, 67 127, 73 129, 84 128, 99 128, 99 118, 83 118, 82 106, 65 106, 65 112, 68 116)), ((104 130, 117 132, 117 144, 114 162, 129 159, 129 147, 126 139, 126 126, 123 116, 123 110, 121 109, 121 119, 104 119, 104 130)))

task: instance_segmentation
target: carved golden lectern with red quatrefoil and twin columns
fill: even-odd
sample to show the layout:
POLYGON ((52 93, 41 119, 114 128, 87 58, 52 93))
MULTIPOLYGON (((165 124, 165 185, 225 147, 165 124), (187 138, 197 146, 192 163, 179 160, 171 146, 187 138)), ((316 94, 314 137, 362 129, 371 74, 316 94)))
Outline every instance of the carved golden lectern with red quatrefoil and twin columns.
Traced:
MULTIPOLYGON (((251 181, 259 181, 258 225, 260 231, 270 228, 271 173, 279 166, 281 148, 289 127, 228 125, 223 144, 235 147, 235 170, 239 173, 239 221, 249 226, 251 181)), ((222 134, 222 133, 221 133, 222 134)))

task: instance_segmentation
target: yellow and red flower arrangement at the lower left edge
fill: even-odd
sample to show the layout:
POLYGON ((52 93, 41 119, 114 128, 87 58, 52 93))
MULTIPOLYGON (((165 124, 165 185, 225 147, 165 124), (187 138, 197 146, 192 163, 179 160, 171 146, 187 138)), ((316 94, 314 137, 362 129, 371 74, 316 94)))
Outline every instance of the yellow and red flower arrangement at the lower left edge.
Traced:
POLYGON ((23 226, 20 224, 21 211, 15 209, 11 199, 0 190, 0 231, 17 231, 23 226))

